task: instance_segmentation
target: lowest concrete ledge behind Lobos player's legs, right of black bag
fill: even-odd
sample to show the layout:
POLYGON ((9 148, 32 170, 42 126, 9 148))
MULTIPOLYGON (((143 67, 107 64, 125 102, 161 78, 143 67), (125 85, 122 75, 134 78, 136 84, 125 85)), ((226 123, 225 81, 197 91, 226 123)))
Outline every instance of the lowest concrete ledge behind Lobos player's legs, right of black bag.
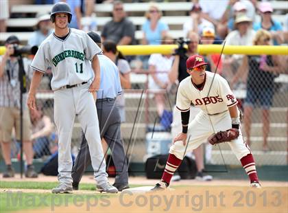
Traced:
MULTIPOLYGON (((264 153, 263 151, 254 151, 253 157, 256 166, 261 165, 287 165, 287 151, 271 151, 264 153)), ((230 150, 213 150, 212 164, 217 165, 241 165, 240 161, 230 150), (223 157, 222 157, 223 156, 223 157)))

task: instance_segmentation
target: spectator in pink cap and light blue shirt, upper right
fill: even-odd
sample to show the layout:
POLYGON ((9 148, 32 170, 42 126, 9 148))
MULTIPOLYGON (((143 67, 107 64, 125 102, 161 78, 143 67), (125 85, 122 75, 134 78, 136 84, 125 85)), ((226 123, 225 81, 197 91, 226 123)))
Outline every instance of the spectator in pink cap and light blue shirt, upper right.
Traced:
POLYGON ((261 22, 255 23, 254 30, 268 30, 272 34, 274 45, 280 45, 283 43, 283 27, 280 22, 272 19, 273 8, 271 3, 264 1, 259 5, 259 11, 261 14, 261 22))

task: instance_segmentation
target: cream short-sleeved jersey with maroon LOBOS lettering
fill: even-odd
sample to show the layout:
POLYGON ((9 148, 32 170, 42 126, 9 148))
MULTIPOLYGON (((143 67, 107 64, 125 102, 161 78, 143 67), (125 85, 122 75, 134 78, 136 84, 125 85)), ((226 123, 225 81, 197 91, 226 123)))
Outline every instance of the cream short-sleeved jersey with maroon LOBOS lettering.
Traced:
POLYGON ((180 111, 189 111, 190 105, 200 108, 208 114, 217 114, 228 110, 228 107, 237 104, 237 99, 232 93, 228 82, 219 74, 206 71, 204 86, 198 89, 193 85, 191 76, 180 82, 176 107, 180 111), (212 81, 213 80, 213 81, 212 81), (212 85, 212 87, 211 87, 212 85), (211 87, 210 93, 209 89, 211 87))

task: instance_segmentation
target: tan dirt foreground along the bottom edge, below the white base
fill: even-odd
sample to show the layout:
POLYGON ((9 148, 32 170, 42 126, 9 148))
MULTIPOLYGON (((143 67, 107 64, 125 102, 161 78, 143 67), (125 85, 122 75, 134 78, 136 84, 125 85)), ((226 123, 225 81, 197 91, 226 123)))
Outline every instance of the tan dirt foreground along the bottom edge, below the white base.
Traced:
MULTIPOLYGON (((102 194, 97 199, 67 206, 27 212, 287 212, 288 188, 253 189, 239 186, 191 186, 158 193, 116 197, 102 194)), ((77 192, 78 193, 78 192, 77 192)), ((92 197, 93 198, 93 197, 92 197)), ((23 211, 21 211, 23 212, 23 211)))

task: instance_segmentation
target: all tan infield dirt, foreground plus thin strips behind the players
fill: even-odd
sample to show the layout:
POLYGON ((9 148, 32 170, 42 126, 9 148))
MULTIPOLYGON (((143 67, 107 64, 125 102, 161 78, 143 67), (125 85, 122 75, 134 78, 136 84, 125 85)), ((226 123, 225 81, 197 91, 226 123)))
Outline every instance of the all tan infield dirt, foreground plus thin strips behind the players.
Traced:
MULTIPOLYGON (((5 181, 56 182, 57 177, 40 175, 38 179, 1 179, 5 181)), ((113 183, 114 179, 110 179, 113 183)), ((157 180, 145 177, 130 177, 130 184, 154 186, 157 180)), ((91 176, 84 176, 82 183, 95 183, 91 176)), ((285 212, 288 210, 288 182, 263 181, 263 188, 248 187, 248 180, 181 180, 171 183, 174 190, 158 193, 136 193, 125 191, 118 194, 100 194, 93 190, 74 191, 72 202, 59 201, 42 209, 20 212, 285 212), (58 202, 58 203, 57 203, 58 202), (60 203, 61 205, 60 205, 60 203)), ((51 194, 51 190, 4 189, 0 192, 51 194)), ((70 195, 69 195, 70 196, 70 195)), ((53 201, 53 199, 51 199, 53 201)))

